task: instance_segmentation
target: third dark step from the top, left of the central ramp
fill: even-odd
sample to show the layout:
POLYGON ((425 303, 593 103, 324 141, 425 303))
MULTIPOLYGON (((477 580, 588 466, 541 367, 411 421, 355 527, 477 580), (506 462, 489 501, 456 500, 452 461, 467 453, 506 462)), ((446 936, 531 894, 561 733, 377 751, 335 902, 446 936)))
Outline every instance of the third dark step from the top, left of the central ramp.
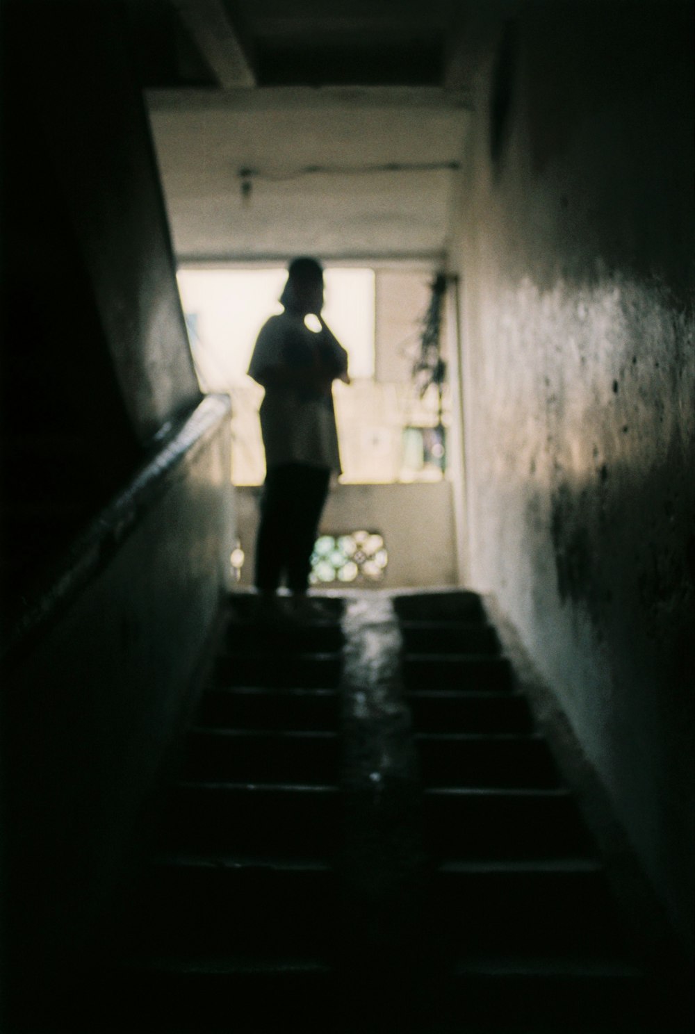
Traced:
POLYGON ((340 678, 339 653, 295 653, 267 649, 258 652, 222 653, 214 669, 218 686, 302 687, 332 689, 340 678))

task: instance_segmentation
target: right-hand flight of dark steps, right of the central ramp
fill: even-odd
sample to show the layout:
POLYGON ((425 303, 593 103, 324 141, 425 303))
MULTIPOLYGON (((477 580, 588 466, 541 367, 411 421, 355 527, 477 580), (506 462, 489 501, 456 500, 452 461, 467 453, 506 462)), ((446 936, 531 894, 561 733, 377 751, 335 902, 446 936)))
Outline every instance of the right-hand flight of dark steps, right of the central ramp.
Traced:
POLYGON ((603 865, 480 599, 394 605, 434 861, 433 1029, 651 1030, 603 865))

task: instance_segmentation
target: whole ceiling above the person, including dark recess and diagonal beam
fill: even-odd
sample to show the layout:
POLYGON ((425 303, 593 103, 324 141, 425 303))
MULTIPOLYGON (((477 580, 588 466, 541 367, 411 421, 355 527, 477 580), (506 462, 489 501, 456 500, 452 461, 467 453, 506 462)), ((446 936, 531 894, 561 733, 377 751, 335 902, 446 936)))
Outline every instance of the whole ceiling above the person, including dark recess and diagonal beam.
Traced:
POLYGON ((176 74, 160 59, 144 82, 180 262, 439 261, 470 107, 460 3, 167 6, 176 74))

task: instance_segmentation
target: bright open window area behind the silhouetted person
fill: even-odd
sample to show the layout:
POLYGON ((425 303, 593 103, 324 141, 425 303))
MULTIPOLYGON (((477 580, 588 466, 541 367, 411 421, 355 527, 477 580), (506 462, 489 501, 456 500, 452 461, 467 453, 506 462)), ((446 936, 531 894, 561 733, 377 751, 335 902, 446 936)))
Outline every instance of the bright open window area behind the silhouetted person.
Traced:
MULTIPOLYGON (((353 378, 351 386, 334 386, 342 482, 443 477, 448 386, 441 397, 435 385, 423 393, 413 374, 431 277, 426 269, 325 272, 323 315, 348 349, 353 378)), ((232 396, 232 479, 237 485, 259 485, 265 478, 258 415, 263 388, 246 370, 261 327, 281 311, 278 298, 285 279, 284 268, 182 269, 178 274, 201 388, 232 396)), ((344 569, 343 580, 352 570, 350 565, 344 569)), ((366 568, 360 574, 369 577, 366 568)))

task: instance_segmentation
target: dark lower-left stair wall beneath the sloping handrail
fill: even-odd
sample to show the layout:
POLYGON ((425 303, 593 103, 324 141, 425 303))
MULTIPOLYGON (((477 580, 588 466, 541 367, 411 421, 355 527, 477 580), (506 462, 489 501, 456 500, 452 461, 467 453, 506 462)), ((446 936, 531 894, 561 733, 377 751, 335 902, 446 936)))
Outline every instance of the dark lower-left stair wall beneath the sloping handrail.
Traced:
POLYGON ((50 1011, 60 981, 79 976, 147 832, 143 815, 200 689, 194 678, 228 585, 229 469, 222 419, 167 473, 144 512, 135 490, 115 522, 104 513, 92 552, 108 560, 5 666, 3 1008, 22 1029, 44 1029, 32 1026, 31 1010, 50 1011), (133 519, 113 551, 112 538, 133 519))

